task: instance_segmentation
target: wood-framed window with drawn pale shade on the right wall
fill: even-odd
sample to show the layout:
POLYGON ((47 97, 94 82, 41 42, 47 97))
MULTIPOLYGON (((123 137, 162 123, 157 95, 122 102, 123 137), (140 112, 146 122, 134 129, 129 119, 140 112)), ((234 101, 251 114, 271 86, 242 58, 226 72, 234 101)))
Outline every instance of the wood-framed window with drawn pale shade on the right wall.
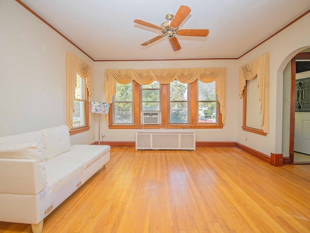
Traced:
POLYGON ((257 76, 247 80, 243 93, 243 130, 266 135, 261 127, 260 101, 258 92, 257 76))

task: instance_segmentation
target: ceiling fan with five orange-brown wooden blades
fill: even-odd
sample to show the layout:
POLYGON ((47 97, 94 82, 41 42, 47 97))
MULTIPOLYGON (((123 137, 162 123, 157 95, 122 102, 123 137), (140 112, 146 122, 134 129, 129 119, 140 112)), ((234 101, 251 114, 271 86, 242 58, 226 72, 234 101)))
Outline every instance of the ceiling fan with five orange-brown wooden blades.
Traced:
POLYGON ((183 20, 189 15, 190 8, 188 6, 180 6, 178 12, 173 16, 172 14, 167 14, 166 19, 167 21, 163 22, 160 27, 156 26, 152 23, 145 22, 140 19, 135 19, 134 22, 138 23, 140 25, 150 27, 156 30, 159 30, 162 32, 161 35, 158 35, 154 37, 153 39, 150 39, 143 44, 142 46, 149 45, 156 40, 159 40, 160 38, 166 36, 168 37, 172 49, 174 51, 181 50, 181 46, 179 44, 178 39, 176 38, 176 35, 187 35, 187 36, 207 36, 209 34, 208 29, 179 29, 179 26, 183 22, 183 20))

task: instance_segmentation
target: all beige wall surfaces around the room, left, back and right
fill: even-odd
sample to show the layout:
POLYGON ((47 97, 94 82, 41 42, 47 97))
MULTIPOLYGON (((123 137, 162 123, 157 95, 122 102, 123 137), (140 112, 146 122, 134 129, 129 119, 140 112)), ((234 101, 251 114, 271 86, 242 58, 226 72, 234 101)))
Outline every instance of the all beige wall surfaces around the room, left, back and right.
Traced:
MULTIPOLYGON (((197 141, 237 141, 267 155, 282 152, 283 71, 291 58, 310 46, 310 14, 239 60, 93 62, 16 1, 0 1, 0 136, 66 124, 65 51, 93 67, 94 95, 103 101, 105 69, 227 68, 227 120, 223 129, 197 130, 197 141), (238 98, 239 67, 270 53, 270 128, 267 136, 242 131, 242 99, 238 98), (245 141, 245 138, 248 141, 245 141)), ((74 41, 74 38, 72 39, 74 41)), ((102 117, 104 118, 104 117, 102 117)), ((98 116, 90 114, 91 130, 71 136, 73 144, 98 140, 98 116)), ((107 141, 134 141, 134 130, 109 130, 107 141)))

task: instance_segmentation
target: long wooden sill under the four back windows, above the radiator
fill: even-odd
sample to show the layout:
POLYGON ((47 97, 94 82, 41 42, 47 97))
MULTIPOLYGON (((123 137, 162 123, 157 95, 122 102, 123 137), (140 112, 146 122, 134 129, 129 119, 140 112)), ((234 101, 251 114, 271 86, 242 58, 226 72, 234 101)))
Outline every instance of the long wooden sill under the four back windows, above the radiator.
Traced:
POLYGON ((109 129, 222 129, 219 124, 173 124, 173 125, 109 125, 109 129))

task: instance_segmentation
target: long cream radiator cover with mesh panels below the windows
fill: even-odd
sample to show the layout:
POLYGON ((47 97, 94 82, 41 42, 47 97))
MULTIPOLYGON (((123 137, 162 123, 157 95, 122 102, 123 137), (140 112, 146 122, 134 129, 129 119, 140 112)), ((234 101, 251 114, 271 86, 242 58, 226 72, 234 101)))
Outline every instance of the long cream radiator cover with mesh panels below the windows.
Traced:
POLYGON ((196 131, 136 130, 136 150, 196 150, 196 131))

